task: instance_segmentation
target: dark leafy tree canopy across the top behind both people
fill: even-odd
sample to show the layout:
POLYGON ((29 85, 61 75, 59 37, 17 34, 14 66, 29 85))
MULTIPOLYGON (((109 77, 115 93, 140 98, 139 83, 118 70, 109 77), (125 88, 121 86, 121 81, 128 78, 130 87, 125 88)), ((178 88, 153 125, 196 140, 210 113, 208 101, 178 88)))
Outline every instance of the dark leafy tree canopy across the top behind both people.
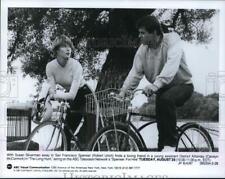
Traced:
POLYGON ((124 40, 135 43, 135 23, 139 17, 151 13, 162 16, 168 12, 170 23, 167 26, 173 27, 184 40, 209 40, 210 31, 205 31, 202 25, 215 14, 215 10, 10 8, 9 72, 14 72, 13 61, 20 57, 24 75, 43 79, 47 62, 54 58, 51 42, 56 36, 65 34, 72 39, 76 47, 75 58, 86 68, 87 78, 96 78, 100 73, 100 52, 118 48, 124 40), (88 46, 90 42, 104 39, 106 43, 88 46), (109 44, 110 39, 114 44, 109 44), (116 39, 120 41, 116 43, 116 39))

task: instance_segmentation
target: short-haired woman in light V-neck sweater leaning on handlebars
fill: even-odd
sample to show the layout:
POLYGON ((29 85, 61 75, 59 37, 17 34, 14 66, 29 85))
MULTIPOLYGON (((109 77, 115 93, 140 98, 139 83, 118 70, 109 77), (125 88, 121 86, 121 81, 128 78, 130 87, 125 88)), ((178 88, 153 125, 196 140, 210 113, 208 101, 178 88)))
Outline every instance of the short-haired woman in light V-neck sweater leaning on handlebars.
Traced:
MULTIPOLYGON (((61 35, 56 38, 53 43, 53 52, 56 56, 54 60, 49 62, 46 66, 47 81, 50 84, 50 98, 65 99, 70 103, 70 110, 75 110, 76 113, 67 114, 67 124, 72 129, 73 133, 82 120, 82 113, 85 106, 85 95, 91 93, 88 86, 83 79, 83 69, 81 64, 71 58, 74 51, 74 46, 71 40, 61 35), (55 90, 56 84, 61 85, 66 89, 66 92, 55 90)), ((93 129, 93 127, 91 126, 93 129)), ((89 129, 90 131, 90 129, 89 129)), ((85 143, 85 132, 87 133, 87 121, 84 121, 83 127, 79 133, 79 140, 85 143)), ((71 135, 65 129, 67 137, 68 150, 70 150, 71 135)))

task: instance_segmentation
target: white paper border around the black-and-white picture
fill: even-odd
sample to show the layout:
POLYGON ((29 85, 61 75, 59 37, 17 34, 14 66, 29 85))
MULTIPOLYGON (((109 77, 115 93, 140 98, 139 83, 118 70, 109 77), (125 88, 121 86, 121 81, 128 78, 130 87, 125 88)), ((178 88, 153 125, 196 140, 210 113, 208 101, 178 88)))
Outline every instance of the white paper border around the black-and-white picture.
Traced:
MULTIPOLYGON (((220 41, 219 41, 219 71, 225 71, 225 2, 224 1, 149 1, 149 0, 3 0, 1 7, 1 64, 0 70, 7 70, 7 8, 8 7, 65 7, 65 8, 185 8, 185 9, 219 9, 220 10, 220 41)), ((222 92, 224 89, 220 89, 222 92)), ((224 94, 224 92, 223 92, 224 94)), ((224 177, 225 176, 225 99, 220 99, 220 145, 219 156, 220 165, 218 167, 213 166, 177 166, 174 164, 163 163, 161 165, 146 165, 146 163, 138 163, 142 168, 139 171, 131 171, 133 175, 137 173, 151 174, 167 174, 169 177, 224 177)), ((4 110, 5 103, 0 103, 0 117, 1 123, 6 124, 6 113, 4 110), (3 119, 3 120, 2 120, 3 119)), ((3 134, 3 130, 0 131, 3 134)), ((7 161, 5 160, 5 142, 1 142, 1 165, 0 165, 0 177, 13 177, 13 173, 10 173, 6 169, 7 161), (2 171, 2 172, 1 172, 2 171)), ((215 153, 214 153, 215 154, 215 153)), ((204 153, 205 155, 205 153, 204 153)), ((82 164, 80 162, 79 164, 82 164)), ((60 163, 59 163, 60 164, 60 163)), ((105 165, 105 163, 98 162, 98 166, 105 165)), ((114 171, 112 171, 113 173, 114 171)), ((38 174, 38 173, 35 173, 38 174)), ((55 176, 55 175, 54 175, 55 176)), ((15 177, 15 176, 14 176, 15 177)), ((37 177, 32 173, 21 173, 16 177, 37 177)), ((46 174, 39 173, 39 177, 46 177, 46 174)), ((50 173, 48 177, 53 177, 50 173)), ((57 177, 57 176, 56 176, 57 177)), ((62 177, 60 175, 60 177, 62 177)))

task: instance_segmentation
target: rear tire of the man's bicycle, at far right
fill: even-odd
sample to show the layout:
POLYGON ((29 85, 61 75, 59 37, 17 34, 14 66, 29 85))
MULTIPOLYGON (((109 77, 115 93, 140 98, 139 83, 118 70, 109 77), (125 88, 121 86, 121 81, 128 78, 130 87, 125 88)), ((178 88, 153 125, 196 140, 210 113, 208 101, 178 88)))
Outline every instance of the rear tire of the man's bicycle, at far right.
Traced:
MULTIPOLYGON (((203 136, 204 140, 206 141, 206 143, 208 145, 208 150, 205 150, 205 152, 214 151, 213 140, 210 137, 209 133, 207 132, 207 130, 204 127, 202 127, 201 125, 196 124, 196 123, 186 123, 186 124, 184 124, 180 127, 176 151, 179 151, 178 147, 179 147, 179 142, 182 139, 182 136, 187 135, 186 131, 190 130, 190 129, 193 129, 193 130, 197 131, 199 134, 201 134, 201 136, 203 136)), ((187 136, 185 136, 185 137, 187 138, 187 136)), ((188 139, 188 140, 190 141, 190 139, 188 139)), ((192 150, 188 150, 188 151, 192 151, 192 150)), ((197 149, 195 149, 194 152, 203 152, 203 151, 198 151, 197 149)))

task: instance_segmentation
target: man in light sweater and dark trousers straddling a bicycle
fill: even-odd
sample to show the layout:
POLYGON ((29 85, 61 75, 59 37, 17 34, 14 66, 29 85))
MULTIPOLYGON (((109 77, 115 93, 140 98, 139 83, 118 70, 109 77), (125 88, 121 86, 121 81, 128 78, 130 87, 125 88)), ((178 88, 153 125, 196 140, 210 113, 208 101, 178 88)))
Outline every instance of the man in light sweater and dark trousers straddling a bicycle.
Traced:
POLYGON ((154 16, 141 18, 137 27, 141 45, 119 95, 124 97, 127 90, 135 89, 145 75, 150 82, 145 93, 156 93, 158 150, 175 151, 176 107, 182 106, 193 93, 192 75, 185 62, 182 41, 175 32, 163 34, 154 16))

